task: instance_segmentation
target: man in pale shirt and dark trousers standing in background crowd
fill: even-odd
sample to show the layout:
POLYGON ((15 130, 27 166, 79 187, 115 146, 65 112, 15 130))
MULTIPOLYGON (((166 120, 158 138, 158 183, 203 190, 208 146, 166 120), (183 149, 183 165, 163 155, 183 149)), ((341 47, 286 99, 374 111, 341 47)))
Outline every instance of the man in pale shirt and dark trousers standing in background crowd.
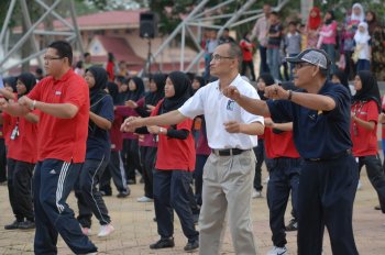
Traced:
POLYGON ((267 31, 268 31, 268 15, 271 11, 272 11, 272 8, 268 3, 263 4, 263 13, 265 15, 257 19, 251 36, 251 40, 253 40, 256 36, 258 41, 258 51, 260 51, 260 57, 261 57, 260 75, 270 71, 267 66, 267 31))

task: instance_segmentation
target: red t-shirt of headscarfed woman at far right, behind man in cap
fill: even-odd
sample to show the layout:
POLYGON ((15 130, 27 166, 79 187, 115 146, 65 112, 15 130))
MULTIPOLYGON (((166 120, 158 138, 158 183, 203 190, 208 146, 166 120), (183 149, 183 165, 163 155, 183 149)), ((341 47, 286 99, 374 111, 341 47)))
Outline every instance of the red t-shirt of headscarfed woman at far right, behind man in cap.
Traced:
POLYGON ((351 109, 361 120, 373 121, 375 123, 373 130, 365 130, 352 120, 350 132, 353 142, 353 155, 356 157, 376 155, 378 151, 376 134, 378 108, 376 102, 373 100, 365 103, 356 102, 351 109))

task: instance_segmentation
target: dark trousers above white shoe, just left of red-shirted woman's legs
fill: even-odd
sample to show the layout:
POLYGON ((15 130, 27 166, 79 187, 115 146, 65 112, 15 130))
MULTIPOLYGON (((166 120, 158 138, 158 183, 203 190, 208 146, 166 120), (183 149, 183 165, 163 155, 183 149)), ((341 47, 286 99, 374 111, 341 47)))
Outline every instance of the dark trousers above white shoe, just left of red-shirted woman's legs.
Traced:
POLYGON ((140 146, 142 174, 144 179, 144 196, 154 198, 153 171, 155 169, 157 147, 140 146))

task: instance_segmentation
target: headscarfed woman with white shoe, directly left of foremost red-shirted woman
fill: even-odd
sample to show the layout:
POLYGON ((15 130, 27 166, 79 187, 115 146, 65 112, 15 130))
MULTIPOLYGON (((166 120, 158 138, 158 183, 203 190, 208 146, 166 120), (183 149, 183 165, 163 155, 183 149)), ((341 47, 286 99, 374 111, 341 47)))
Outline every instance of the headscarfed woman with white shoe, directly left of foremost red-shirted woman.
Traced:
MULTIPOLYGON (((153 75, 150 78, 150 91, 136 102, 133 100, 127 101, 127 106, 134 109, 142 118, 150 117, 158 101, 164 98, 166 78, 167 76, 163 74, 153 75)), ((146 129, 144 130, 146 131, 146 129)), ((139 141, 141 163, 143 167, 144 196, 138 198, 138 202, 151 202, 154 198, 153 170, 155 167, 157 143, 154 135, 148 134, 148 132, 144 133, 145 134, 140 135, 139 141)))

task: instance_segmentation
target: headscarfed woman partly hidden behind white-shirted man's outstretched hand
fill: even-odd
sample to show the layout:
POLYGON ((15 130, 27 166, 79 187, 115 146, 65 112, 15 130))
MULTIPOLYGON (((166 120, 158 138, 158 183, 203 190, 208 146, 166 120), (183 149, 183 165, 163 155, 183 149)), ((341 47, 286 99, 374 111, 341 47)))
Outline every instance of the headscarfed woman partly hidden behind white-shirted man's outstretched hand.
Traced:
MULTIPOLYGON (((132 77, 129 80, 129 91, 127 92, 124 104, 125 107, 119 107, 117 109, 119 114, 125 117, 138 115, 135 111, 127 107, 128 101, 138 101, 144 96, 144 84, 143 80, 139 77, 132 77)), ((142 175, 142 165, 140 160, 139 153, 139 142, 138 135, 132 133, 123 133, 123 151, 122 151, 122 160, 124 164, 124 169, 127 174, 127 181, 129 185, 136 184, 135 169, 142 175)), ((121 196, 119 196, 121 197, 121 196)))

